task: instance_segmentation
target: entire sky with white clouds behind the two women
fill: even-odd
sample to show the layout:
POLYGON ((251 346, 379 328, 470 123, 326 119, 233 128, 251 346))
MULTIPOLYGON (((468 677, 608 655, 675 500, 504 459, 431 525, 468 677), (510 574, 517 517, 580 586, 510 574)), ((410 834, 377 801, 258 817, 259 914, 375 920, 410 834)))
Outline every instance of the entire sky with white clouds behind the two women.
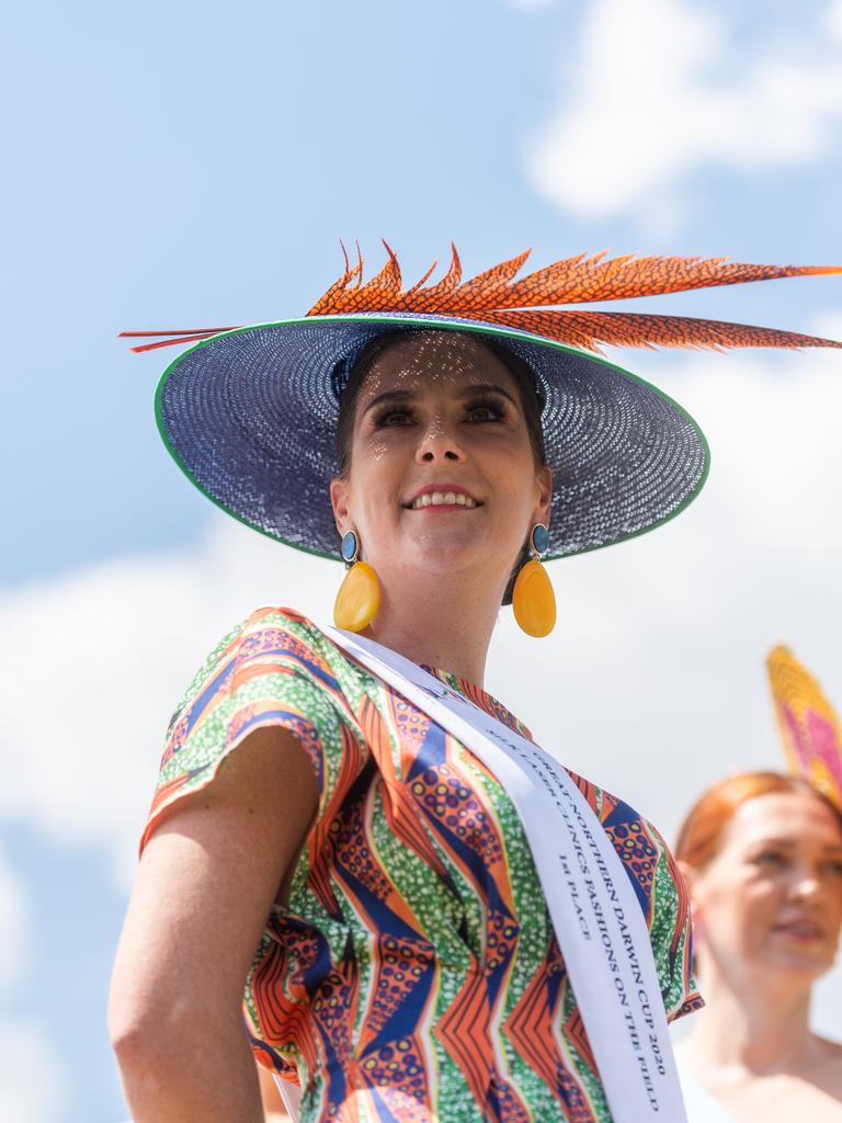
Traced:
MULTIPOLYGON (((168 715, 234 622, 324 615, 341 576, 191 489, 153 420, 168 355, 116 334, 300 314, 340 237, 409 281, 450 239, 466 273, 840 264, 842 0, 33 0, 3 30, 0 1117, 116 1123, 108 976, 168 715)), ((650 308, 842 338, 842 279, 650 308)), ((674 838, 707 783, 780 767, 772 645, 842 706, 842 358, 610 357, 701 422, 710 483, 553 565, 556 632, 504 612, 487 686, 674 838)))

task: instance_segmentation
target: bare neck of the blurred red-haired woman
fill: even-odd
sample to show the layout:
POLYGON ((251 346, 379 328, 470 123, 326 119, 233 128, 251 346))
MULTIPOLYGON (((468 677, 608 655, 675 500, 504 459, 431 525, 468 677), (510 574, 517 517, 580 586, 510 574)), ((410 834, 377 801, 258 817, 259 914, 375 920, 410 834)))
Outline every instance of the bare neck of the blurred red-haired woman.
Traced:
POLYGON ((734 985, 711 965, 701 988, 707 1006, 688 1041, 699 1075, 730 1069, 763 1076, 809 1063, 817 1039, 809 1031, 808 985, 775 986, 769 974, 734 985))

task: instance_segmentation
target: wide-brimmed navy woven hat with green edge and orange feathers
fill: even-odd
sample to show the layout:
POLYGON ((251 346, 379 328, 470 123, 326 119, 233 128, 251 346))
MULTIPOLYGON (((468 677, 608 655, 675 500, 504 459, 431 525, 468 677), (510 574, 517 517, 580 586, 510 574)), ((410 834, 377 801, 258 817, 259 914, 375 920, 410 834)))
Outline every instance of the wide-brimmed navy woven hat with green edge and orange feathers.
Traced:
MULTIPOLYGON (((699 493, 710 453, 693 418, 661 390, 560 339, 588 347, 596 339, 839 346, 678 317, 522 310, 524 304, 607 300, 612 292, 626 296, 836 271, 579 257, 511 283, 523 256, 460 284, 454 252, 443 281, 402 292, 390 252, 385 270, 366 285, 359 283, 361 262, 347 266, 303 318, 182 337, 199 341, 171 363, 158 386, 156 414, 166 447, 196 487, 236 519, 289 546, 339 559, 329 497, 338 471, 337 371, 347 371, 384 332, 469 332, 506 348, 532 373, 553 476, 547 558, 562 557, 622 541, 676 515, 699 493)), ((140 334, 165 332, 129 332, 140 334)), ((161 345, 137 349, 149 346, 161 345)))

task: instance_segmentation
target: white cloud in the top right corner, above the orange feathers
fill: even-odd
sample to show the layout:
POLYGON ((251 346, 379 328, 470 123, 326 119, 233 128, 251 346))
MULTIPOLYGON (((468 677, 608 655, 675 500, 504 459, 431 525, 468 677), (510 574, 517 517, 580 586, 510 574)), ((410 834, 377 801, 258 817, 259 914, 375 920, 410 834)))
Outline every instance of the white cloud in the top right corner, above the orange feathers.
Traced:
POLYGON ((562 100, 527 147, 534 186, 584 218, 639 211, 651 223, 702 166, 817 159, 842 125, 842 61, 826 42, 842 38, 841 9, 835 0, 813 27, 794 17, 786 45, 730 61, 710 7, 594 0, 559 63, 562 100))

